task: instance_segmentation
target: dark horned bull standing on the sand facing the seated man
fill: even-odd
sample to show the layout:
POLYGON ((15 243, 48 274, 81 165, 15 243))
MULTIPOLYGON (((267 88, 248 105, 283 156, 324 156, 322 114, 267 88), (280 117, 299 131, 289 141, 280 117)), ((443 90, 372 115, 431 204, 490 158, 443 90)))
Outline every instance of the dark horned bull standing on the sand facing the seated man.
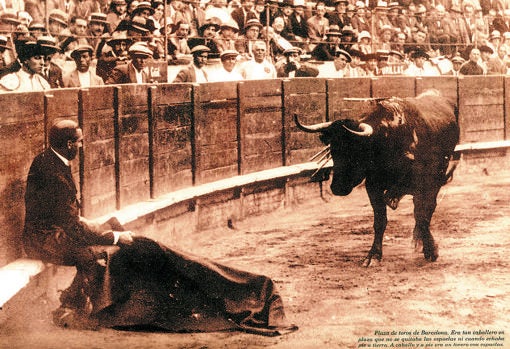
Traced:
POLYGON ((413 98, 375 100, 359 121, 340 119, 297 127, 319 133, 326 144, 322 157, 333 160, 331 191, 346 196, 365 180, 374 212, 374 241, 364 265, 382 259, 387 208, 396 209, 406 194, 413 196, 415 246, 428 261, 436 261, 438 247, 430 232, 441 187, 453 175, 450 166, 459 140, 455 105, 436 91, 413 98), (372 108, 373 106, 373 108, 372 108))

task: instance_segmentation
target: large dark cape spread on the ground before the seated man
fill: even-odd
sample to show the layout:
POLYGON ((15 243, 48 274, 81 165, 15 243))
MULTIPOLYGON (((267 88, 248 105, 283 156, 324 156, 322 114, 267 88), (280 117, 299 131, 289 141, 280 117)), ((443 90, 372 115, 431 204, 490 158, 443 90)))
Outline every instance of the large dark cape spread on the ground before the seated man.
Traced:
POLYGON ((90 317, 99 326, 269 336, 297 329, 287 324, 282 299, 266 276, 142 237, 130 246, 112 246, 102 257, 86 286, 90 317))

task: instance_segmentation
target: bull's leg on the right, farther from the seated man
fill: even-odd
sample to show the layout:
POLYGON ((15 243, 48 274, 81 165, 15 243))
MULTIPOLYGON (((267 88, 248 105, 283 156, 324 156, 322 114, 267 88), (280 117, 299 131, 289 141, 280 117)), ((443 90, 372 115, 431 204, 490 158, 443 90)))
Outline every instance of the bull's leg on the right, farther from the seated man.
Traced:
POLYGON ((439 188, 430 188, 420 191, 413 198, 415 219, 413 239, 415 243, 423 243, 423 255, 431 262, 436 261, 439 256, 438 247, 430 233, 430 221, 436 209, 438 193, 439 188))

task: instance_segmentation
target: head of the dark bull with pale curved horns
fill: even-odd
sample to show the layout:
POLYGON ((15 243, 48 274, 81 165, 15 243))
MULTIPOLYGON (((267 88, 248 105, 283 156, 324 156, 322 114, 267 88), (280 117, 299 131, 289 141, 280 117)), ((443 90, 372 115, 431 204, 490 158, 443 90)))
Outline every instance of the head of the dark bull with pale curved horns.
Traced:
POLYGON ((305 126, 294 115, 294 121, 302 131, 319 133, 320 140, 330 146, 333 159, 331 191, 335 195, 348 195, 366 176, 372 158, 369 147, 372 127, 351 119, 305 126))

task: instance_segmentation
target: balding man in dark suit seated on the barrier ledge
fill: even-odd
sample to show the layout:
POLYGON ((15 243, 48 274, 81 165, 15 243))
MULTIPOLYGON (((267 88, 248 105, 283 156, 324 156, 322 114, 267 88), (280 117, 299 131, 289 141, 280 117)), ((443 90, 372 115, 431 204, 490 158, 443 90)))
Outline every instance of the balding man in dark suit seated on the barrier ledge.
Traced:
POLYGON ((27 256, 77 268, 73 284, 61 295, 61 308, 54 313, 57 324, 69 317, 86 318, 90 300, 84 290, 92 286, 90 275, 97 268, 96 260, 109 246, 133 241, 131 232, 114 232, 80 216, 70 161, 82 142, 76 122, 56 122, 49 131, 50 147, 30 166, 25 192, 23 246, 27 256))

